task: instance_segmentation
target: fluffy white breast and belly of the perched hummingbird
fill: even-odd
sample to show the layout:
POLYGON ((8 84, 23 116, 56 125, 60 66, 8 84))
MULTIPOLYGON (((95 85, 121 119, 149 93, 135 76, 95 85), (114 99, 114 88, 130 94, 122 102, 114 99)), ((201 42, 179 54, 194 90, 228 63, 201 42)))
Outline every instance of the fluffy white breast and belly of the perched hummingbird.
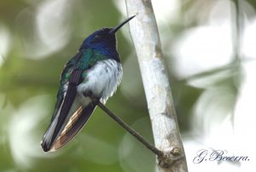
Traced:
POLYGON ((97 61, 86 73, 84 82, 77 87, 79 95, 90 90, 93 95, 102 97, 104 103, 113 95, 123 76, 122 66, 116 60, 97 61))

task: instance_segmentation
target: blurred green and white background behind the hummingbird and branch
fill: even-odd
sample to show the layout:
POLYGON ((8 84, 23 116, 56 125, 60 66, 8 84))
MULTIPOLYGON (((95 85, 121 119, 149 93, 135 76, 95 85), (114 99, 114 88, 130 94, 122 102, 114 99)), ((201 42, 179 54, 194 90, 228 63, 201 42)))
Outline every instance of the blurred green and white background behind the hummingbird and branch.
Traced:
MULTIPOLYGON (((189 169, 198 171, 193 170, 191 158, 198 147, 218 146, 214 135, 220 137, 227 130, 219 128, 228 126, 230 132, 221 137, 235 141, 247 133, 245 125, 253 129, 253 105, 247 102, 255 93, 251 74, 256 2, 154 0, 153 6, 189 169), (242 123, 244 113, 248 121, 242 123), (241 132, 234 136, 233 129, 241 132)), ((67 60, 91 32, 126 18, 125 1, 119 0, 0 1, 1 172, 154 171, 154 154, 100 109, 60 151, 45 154, 40 147, 67 60)), ((128 26, 117 37, 124 77, 107 106, 153 142, 128 26)), ((226 171, 223 166, 222 170, 226 171)))

